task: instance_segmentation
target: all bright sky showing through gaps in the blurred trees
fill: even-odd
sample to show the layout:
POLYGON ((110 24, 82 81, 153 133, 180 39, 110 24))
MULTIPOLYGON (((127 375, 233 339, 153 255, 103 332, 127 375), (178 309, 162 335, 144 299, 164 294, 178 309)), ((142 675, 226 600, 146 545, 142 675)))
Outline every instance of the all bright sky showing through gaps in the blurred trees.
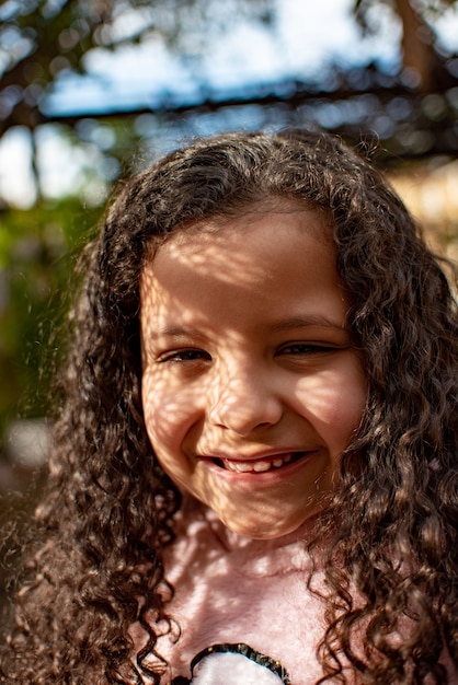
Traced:
MULTIPOLYGON (((75 114, 95 113, 107 105, 150 107, 164 94, 192 102, 202 85, 216 92, 286 77, 319 81, 331 62, 344 67, 373 59, 389 66, 399 58, 400 26, 388 10, 378 9, 378 34, 362 39, 351 15, 352 0, 278 0, 277 4, 275 31, 245 23, 227 34, 209 36, 207 58, 198 69, 195 62, 171 56, 157 38, 123 48, 117 55, 94 50, 87 60, 90 76, 62 82, 46 108, 75 114)), ((119 31, 125 31, 126 24, 124 19, 119 31)), ((458 11, 445 18, 438 30, 445 46, 458 50, 458 11)), ((53 129, 43 130, 38 143, 41 177, 49 196, 69 191, 82 166, 96 163, 89 149, 76 151, 53 129)), ((98 187, 96 183, 91 187, 94 201, 104 193, 103 184, 98 187)), ((0 141, 0 195, 27 207, 34 193, 30 140, 22 131, 11 131, 0 141)))

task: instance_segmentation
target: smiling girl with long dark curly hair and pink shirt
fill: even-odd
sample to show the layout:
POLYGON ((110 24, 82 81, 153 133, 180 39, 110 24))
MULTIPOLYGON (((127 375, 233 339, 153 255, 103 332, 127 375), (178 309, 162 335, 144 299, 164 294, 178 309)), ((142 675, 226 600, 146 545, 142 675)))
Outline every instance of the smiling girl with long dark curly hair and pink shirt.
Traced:
POLYGON ((4 683, 458 683, 456 320, 339 140, 226 135, 83 262, 4 683))

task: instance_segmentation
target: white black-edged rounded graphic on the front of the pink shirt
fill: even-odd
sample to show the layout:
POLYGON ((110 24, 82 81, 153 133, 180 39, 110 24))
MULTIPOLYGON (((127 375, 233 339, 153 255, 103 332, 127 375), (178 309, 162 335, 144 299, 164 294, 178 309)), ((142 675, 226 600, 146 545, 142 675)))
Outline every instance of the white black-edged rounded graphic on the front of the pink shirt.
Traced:
POLYGON ((249 645, 213 645, 191 662, 191 678, 178 676, 171 685, 290 685, 279 661, 249 645))

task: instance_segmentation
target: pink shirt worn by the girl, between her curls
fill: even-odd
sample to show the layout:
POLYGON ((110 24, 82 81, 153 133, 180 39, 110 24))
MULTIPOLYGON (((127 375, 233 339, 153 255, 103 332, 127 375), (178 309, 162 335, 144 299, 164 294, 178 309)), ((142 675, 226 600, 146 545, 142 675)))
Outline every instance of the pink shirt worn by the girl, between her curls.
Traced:
MULTIPOLYGON (((306 523, 288 536, 253 541, 228 531, 194 500, 183 506, 176 539, 164 556, 174 588, 168 612, 176 625, 172 632, 164 629, 156 646, 168 662, 161 683, 314 685, 323 675, 316 651, 324 606, 307 589, 309 530, 306 523)), ((325 591, 317 568, 313 588, 325 591)), ((133 629, 137 647, 138 628, 133 629)), ((444 663, 454 673, 450 685, 458 685, 447 655, 444 663)), ((354 683, 351 672, 346 677, 354 683)))

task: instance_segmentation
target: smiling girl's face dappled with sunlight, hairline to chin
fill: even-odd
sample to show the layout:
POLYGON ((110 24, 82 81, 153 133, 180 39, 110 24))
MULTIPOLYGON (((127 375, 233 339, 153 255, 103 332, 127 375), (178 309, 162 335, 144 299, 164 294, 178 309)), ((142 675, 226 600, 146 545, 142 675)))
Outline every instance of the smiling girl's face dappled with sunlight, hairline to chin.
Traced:
POLYGON ((173 235, 144 269, 142 397, 163 469, 232 531, 298 529, 365 406, 330 229, 266 208, 173 235))

